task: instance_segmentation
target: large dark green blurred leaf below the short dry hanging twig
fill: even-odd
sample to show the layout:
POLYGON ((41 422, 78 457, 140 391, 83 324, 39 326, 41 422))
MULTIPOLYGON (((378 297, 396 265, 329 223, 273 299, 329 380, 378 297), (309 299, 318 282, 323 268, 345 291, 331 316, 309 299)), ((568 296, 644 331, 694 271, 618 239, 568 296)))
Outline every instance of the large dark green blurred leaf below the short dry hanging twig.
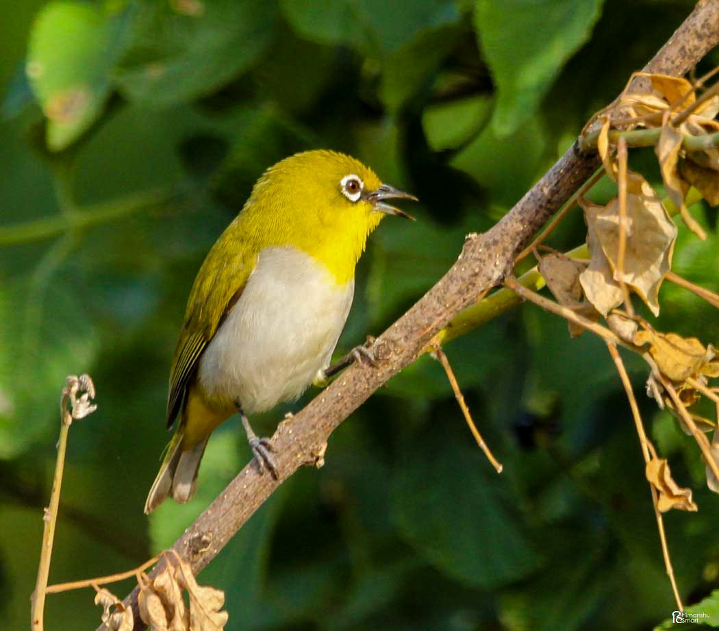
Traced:
POLYGON ((447 576, 493 589, 528 576, 539 556, 508 507, 505 481, 457 416, 423 427, 406 443, 391 489, 393 519, 447 576))

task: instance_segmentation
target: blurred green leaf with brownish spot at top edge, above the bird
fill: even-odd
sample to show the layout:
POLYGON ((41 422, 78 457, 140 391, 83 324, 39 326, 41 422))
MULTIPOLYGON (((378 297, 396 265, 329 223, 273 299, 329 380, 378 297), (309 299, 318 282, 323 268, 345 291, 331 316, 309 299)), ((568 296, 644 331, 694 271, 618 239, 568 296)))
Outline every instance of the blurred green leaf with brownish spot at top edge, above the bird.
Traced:
POLYGON ((206 96, 247 71, 273 34, 264 0, 205 0, 140 6, 132 41, 114 72, 129 99, 168 106, 206 96))

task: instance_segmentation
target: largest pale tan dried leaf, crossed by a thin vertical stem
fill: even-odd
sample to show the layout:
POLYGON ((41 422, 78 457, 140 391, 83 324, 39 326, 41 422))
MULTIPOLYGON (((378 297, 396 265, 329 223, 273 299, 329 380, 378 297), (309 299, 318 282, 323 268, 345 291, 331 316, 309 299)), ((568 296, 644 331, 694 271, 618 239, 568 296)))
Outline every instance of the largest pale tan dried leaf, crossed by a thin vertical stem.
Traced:
MULTIPOLYGON (((612 268, 615 281, 623 280, 644 300, 654 315, 659 315, 659 287, 672 266, 674 240, 677 227, 661 205, 659 197, 649 183, 638 173, 628 173, 626 208, 626 253, 624 256, 623 278, 618 278, 617 255, 619 250, 619 204, 615 198, 606 206, 584 204, 587 226, 595 231, 597 240, 612 268)), ((595 251, 591 249, 592 263, 595 251)), ((590 268, 592 265, 590 264, 590 268)), ((597 309, 606 315, 592 300, 584 275, 580 276, 585 295, 597 309)), ((621 290, 618 289, 619 294, 621 290)), ((616 307, 621 301, 616 301, 616 307)))

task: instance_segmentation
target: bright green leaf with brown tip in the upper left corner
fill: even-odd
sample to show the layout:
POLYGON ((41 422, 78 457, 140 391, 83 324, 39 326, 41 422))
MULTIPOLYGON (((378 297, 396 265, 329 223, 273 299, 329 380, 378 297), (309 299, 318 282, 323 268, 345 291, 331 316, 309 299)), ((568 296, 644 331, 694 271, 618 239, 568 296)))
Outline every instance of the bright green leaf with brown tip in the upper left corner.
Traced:
POLYGON ((100 116, 110 95, 124 19, 95 4, 47 4, 32 27, 25 67, 47 117, 47 146, 71 145, 100 116))

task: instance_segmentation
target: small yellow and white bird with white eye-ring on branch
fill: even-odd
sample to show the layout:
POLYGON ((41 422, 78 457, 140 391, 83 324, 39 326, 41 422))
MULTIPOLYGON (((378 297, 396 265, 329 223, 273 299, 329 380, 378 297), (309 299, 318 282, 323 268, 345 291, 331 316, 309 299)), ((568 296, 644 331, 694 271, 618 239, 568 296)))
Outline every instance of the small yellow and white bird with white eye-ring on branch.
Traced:
POLYGON ((255 183, 190 292, 170 371, 167 420, 178 427, 146 513, 168 495, 192 498, 211 432, 236 412, 260 471, 275 474, 272 445, 246 414, 297 399, 324 374, 367 236, 387 214, 409 217, 393 198, 416 199, 325 150, 285 158, 255 183))

